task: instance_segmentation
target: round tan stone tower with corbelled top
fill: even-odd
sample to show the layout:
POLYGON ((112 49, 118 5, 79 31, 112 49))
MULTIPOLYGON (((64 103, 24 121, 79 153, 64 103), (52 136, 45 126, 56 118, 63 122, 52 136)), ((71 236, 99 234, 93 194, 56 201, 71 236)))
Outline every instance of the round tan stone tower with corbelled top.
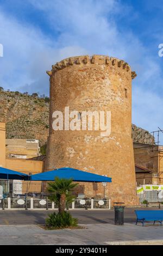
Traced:
MULTIPOLYGON (((94 55, 62 60, 50 76, 49 137, 45 170, 72 167, 112 178, 112 183, 83 183, 85 196, 136 204, 131 138, 131 79, 136 76, 123 60, 94 55), (111 133, 101 130, 53 130, 54 111, 110 111, 111 133)), ((64 119, 65 120, 65 119, 64 119)), ((95 122, 94 124, 95 125, 95 122)))

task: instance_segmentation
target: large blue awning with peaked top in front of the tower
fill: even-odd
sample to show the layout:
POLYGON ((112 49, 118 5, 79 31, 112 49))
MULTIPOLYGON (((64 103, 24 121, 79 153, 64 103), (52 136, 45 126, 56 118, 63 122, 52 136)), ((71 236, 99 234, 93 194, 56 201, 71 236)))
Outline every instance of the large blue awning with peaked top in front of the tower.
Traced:
POLYGON ((64 179, 73 179, 73 181, 83 182, 111 182, 111 178, 94 173, 83 172, 82 170, 73 168, 60 168, 49 172, 38 173, 30 176, 30 180, 51 181, 55 177, 64 179))

